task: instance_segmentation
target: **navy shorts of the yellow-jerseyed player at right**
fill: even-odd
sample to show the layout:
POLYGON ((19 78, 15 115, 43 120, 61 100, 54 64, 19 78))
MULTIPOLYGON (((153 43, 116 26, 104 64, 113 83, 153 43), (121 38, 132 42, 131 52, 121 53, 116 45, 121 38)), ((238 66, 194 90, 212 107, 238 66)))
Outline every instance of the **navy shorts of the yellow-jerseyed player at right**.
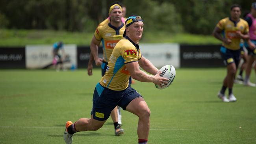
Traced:
POLYGON ((229 50, 224 46, 221 46, 221 57, 223 58, 225 65, 235 63, 237 67, 240 61, 240 55, 241 50, 229 50))

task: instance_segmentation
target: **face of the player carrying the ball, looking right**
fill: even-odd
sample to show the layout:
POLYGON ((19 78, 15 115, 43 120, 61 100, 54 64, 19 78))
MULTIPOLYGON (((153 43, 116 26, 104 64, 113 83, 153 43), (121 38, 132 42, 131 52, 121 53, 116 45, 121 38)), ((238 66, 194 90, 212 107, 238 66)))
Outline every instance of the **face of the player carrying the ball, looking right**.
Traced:
POLYGON ((134 22, 128 28, 130 39, 140 40, 143 33, 143 22, 134 22))

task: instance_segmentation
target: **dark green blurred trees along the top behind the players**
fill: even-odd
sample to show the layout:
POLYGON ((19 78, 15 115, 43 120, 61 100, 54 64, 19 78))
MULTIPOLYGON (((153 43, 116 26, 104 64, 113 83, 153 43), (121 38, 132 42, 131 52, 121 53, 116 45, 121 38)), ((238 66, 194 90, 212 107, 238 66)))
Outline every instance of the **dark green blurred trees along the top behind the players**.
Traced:
MULTIPOLYGON (((1 0, 0 28, 92 32, 108 17, 115 0, 1 0)), ((242 14, 253 0, 119 0, 126 17, 140 15, 145 29, 208 35, 239 4, 242 14)))

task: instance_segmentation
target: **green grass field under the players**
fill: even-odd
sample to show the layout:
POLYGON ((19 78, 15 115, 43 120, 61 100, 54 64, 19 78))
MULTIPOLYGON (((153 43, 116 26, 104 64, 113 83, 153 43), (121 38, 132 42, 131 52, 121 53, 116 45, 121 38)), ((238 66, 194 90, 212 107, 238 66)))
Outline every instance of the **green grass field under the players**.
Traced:
MULTIPOLYGON (((0 144, 64 144, 65 122, 89 117, 100 70, 0 71, 0 144)), ((176 70, 173 84, 158 90, 136 81, 151 110, 148 144, 255 144, 256 88, 234 85, 237 102, 217 98, 224 68, 176 70)), ((252 82, 256 81, 252 72, 252 82)), ((73 144, 136 144, 138 118, 122 111, 124 135, 111 119, 98 131, 74 135, 73 144)))

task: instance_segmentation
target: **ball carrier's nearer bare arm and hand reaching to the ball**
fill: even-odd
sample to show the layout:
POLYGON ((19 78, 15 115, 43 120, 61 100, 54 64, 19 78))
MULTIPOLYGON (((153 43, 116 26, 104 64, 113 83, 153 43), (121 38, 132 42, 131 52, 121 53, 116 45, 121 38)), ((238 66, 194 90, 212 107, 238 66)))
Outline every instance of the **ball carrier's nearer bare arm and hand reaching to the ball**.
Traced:
POLYGON ((127 70, 130 72, 130 75, 132 78, 142 81, 142 82, 152 82, 154 84, 161 85, 162 83, 167 84, 169 79, 160 77, 160 72, 156 73, 156 75, 148 75, 142 70, 139 69, 139 63, 133 62, 133 63, 127 63, 125 64, 127 70))

